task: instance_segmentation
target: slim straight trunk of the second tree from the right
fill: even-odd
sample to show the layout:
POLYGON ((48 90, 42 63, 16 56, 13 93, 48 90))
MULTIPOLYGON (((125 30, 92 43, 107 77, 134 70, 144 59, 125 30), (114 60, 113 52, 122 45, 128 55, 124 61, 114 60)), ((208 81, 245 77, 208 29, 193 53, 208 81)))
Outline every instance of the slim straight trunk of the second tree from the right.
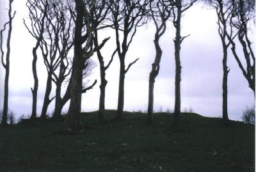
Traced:
POLYGON ((223 45, 223 82, 222 82, 222 118, 228 121, 228 66, 227 66, 227 46, 223 45))

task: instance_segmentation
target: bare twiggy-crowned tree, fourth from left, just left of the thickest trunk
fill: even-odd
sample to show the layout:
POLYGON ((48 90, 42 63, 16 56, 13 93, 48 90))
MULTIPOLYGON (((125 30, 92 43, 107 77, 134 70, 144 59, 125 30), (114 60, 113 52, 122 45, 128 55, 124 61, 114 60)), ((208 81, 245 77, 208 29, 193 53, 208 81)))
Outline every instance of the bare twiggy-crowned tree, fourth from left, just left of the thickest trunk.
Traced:
MULTIPOLYGON (((55 107, 54 107, 54 119, 60 119, 61 118, 61 110, 65 103, 68 101, 63 101, 63 98, 61 98, 61 86, 65 79, 67 79, 68 75, 70 75, 71 68, 68 68, 70 66, 70 61, 68 60, 68 52, 70 52, 70 49, 74 45, 73 39, 72 39, 72 26, 74 26, 74 20, 72 19, 72 13, 74 13, 74 8, 72 6, 72 3, 70 1, 59 1, 56 5, 56 10, 54 10, 54 14, 56 15, 56 22, 61 22, 61 29, 59 31, 59 42, 56 43, 56 47, 58 49, 58 55, 60 58, 60 63, 58 65, 58 73, 54 72, 52 81, 56 84, 56 95, 55 95, 55 107)), ((56 24, 52 24, 52 27, 56 32, 58 33, 58 28, 56 27, 56 24)), ((72 61, 72 60, 71 60, 72 61)), ((70 86, 68 86, 70 88, 70 86)), ((70 92, 70 91, 69 91, 70 92)), ((69 93, 70 95, 70 93, 69 93)))

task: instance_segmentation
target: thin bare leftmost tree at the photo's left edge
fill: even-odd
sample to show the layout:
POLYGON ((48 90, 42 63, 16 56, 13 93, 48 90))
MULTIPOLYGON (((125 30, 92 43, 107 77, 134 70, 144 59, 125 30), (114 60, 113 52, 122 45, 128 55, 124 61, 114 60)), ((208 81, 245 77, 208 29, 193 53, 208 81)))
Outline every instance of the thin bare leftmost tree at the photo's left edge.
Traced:
POLYGON ((9 75, 10 75, 10 52, 11 52, 11 47, 10 47, 10 42, 11 42, 11 36, 12 36, 12 20, 15 17, 15 11, 12 14, 12 3, 13 0, 9 0, 9 10, 8 10, 8 17, 9 21, 4 24, 4 28, 1 29, 0 32, 0 48, 1 48, 1 61, 2 65, 5 70, 5 78, 4 78, 4 107, 3 107, 3 116, 1 120, 1 125, 6 126, 8 125, 7 123, 7 114, 8 114, 8 93, 9 93, 9 75), (7 41, 6 41, 6 56, 5 56, 5 62, 4 62, 4 50, 3 50, 3 33, 6 30, 6 26, 9 26, 8 30, 8 36, 7 36, 7 41))

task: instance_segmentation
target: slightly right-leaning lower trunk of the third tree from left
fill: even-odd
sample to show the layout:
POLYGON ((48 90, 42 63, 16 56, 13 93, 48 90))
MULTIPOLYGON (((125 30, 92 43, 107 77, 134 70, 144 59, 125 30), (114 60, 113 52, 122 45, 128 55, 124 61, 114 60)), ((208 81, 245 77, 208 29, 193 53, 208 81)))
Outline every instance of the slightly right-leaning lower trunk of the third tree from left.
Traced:
POLYGON ((43 107, 42 107, 42 113, 41 113, 41 120, 45 120, 46 119, 46 113, 47 113, 47 109, 49 104, 51 103, 51 100, 49 98, 50 94, 51 94, 51 90, 52 90, 52 77, 51 77, 51 73, 48 74, 47 77, 47 81, 46 81, 46 88, 45 88, 45 95, 44 95, 44 103, 43 103, 43 107))

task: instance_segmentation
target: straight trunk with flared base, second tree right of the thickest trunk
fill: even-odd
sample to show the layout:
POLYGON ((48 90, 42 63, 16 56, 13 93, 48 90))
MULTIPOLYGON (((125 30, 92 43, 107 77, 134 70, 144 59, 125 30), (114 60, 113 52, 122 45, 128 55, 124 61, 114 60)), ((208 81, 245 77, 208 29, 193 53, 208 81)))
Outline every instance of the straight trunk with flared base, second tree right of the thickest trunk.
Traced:
POLYGON ((125 64, 124 58, 120 58, 120 74, 119 74, 119 88, 118 88, 118 105, 117 113, 114 120, 124 120, 124 79, 125 79, 125 64))

